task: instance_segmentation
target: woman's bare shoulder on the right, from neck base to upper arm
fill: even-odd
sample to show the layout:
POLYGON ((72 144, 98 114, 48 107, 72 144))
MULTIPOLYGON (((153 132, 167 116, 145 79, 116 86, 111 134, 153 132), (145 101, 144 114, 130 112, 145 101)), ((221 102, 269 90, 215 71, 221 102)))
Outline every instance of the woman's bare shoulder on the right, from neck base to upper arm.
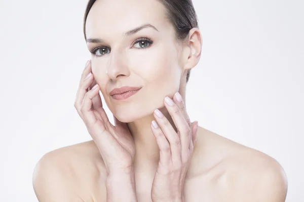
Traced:
POLYGON ((225 201, 285 201, 287 177, 274 158, 204 128, 200 133, 199 157, 210 163, 203 173, 217 176, 225 201))

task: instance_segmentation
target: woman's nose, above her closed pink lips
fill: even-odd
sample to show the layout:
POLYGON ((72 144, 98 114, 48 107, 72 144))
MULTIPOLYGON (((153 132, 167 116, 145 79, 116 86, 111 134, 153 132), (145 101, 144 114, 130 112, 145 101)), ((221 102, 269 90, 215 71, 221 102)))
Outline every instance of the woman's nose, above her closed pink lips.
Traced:
POLYGON ((111 52, 106 74, 111 80, 116 80, 121 76, 128 77, 130 75, 127 61, 123 54, 111 52))

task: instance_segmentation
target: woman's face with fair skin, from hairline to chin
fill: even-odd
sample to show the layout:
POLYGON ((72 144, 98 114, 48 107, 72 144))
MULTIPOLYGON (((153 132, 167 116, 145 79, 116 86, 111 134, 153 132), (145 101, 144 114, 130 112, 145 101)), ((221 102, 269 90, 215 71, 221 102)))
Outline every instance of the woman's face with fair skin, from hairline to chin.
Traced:
POLYGON ((92 73, 118 120, 132 122, 152 114, 164 106, 165 96, 173 97, 179 90, 186 71, 179 59, 182 46, 159 1, 96 1, 87 18, 86 36, 87 41, 102 39, 87 42, 91 51, 97 48, 92 53, 92 73), (147 24, 151 26, 127 33, 147 24), (141 89, 123 100, 110 95, 111 90, 123 86, 141 89))

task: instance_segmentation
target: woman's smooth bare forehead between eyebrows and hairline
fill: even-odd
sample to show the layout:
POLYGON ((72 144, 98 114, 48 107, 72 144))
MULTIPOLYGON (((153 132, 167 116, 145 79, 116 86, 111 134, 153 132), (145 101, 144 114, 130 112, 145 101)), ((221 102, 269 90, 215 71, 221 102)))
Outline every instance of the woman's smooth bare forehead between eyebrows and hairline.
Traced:
POLYGON ((143 24, 168 29, 166 8, 158 0, 97 0, 86 21, 87 38, 122 34, 143 24))

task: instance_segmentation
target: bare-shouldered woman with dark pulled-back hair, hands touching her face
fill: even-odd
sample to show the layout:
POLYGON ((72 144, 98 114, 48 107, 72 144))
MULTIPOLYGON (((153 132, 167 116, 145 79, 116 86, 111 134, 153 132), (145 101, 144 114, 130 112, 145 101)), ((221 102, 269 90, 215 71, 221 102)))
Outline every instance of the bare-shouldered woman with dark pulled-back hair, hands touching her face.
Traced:
POLYGON ((93 140, 39 161, 39 201, 285 201, 278 162, 187 115, 202 48, 190 0, 90 0, 84 34, 92 59, 74 106, 93 140))

